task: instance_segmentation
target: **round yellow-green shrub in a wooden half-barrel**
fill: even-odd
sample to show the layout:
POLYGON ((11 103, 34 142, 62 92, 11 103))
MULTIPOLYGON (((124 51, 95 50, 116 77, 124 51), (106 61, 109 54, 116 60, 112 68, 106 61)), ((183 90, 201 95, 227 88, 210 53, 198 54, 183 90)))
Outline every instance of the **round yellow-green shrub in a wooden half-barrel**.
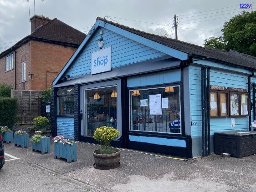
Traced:
POLYGON ((120 149, 110 147, 111 141, 118 138, 119 131, 113 127, 101 126, 94 131, 93 138, 101 147, 93 152, 97 169, 112 169, 120 166, 120 149))

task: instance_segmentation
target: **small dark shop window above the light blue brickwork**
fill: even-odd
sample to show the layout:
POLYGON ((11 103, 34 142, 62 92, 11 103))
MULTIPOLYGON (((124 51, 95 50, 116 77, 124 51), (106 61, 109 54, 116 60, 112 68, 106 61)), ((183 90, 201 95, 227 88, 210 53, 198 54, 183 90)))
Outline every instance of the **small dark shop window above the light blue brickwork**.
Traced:
POLYGON ((74 88, 61 88, 57 92, 58 116, 74 115, 74 88))

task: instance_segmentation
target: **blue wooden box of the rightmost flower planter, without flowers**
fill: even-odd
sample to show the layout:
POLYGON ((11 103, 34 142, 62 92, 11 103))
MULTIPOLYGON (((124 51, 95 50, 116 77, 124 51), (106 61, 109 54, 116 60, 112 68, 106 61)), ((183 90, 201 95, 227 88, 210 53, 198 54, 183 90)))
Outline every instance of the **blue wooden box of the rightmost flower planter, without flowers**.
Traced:
POLYGON ((63 145, 62 143, 54 143, 54 158, 67 159, 68 163, 77 161, 77 143, 73 145, 63 145))

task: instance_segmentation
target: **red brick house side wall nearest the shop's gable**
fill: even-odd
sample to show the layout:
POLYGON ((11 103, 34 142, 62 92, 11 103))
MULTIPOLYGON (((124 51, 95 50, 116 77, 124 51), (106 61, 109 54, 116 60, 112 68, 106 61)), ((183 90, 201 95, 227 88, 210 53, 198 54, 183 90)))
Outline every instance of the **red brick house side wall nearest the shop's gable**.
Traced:
POLYGON ((31 41, 32 90, 51 88, 51 83, 77 50, 46 42, 31 41))

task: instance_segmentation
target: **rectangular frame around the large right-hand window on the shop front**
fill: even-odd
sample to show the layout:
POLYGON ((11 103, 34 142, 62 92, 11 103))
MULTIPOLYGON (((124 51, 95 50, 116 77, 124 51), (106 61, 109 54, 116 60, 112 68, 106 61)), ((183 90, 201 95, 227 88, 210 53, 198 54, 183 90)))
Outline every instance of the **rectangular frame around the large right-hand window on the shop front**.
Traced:
MULTIPOLYGON (((181 96, 183 96, 183 91, 182 91, 182 84, 180 83, 175 83, 175 84, 160 84, 160 85, 153 85, 153 86, 139 86, 139 87, 128 87, 128 98, 129 98, 129 102, 128 102, 128 110, 129 110, 129 120, 128 120, 128 131, 133 134, 133 133, 138 133, 138 134, 142 134, 142 135, 159 135, 159 136, 183 136, 184 135, 184 130, 183 130, 183 118, 184 118, 184 112, 183 112, 183 108, 182 108, 182 104, 181 102, 183 102, 181 96), (133 91, 142 91, 142 90, 151 90, 151 89, 160 89, 160 88, 166 88, 166 87, 179 87, 179 111, 180 111, 180 133, 174 133, 174 132, 159 132, 159 131, 142 131, 142 130, 133 130, 131 129, 131 121, 132 121, 132 114, 131 114, 131 95, 130 93, 133 91)), ((161 97, 162 98, 162 97, 161 97)), ((161 100, 162 102, 162 100, 161 100)), ((149 102, 148 102, 149 104, 149 102)))

